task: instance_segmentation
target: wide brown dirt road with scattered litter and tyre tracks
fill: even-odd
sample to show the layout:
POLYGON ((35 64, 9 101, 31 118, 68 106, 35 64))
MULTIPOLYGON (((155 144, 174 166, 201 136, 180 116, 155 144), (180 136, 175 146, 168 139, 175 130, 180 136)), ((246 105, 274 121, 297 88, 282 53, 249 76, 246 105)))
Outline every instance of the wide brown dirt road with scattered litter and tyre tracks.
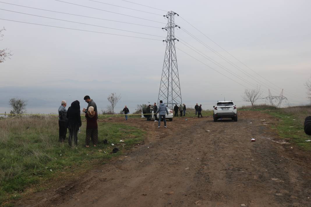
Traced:
POLYGON ((144 145, 18 206, 311 206, 310 155, 272 141, 263 123, 274 121, 240 112, 238 122, 178 118, 158 129, 129 119, 148 131, 144 145))

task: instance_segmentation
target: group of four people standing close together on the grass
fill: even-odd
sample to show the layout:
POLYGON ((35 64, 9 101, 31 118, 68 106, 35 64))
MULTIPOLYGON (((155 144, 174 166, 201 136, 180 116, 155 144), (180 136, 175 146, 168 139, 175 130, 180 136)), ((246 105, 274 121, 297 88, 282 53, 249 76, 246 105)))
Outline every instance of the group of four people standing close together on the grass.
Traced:
MULTIPOLYGON (((83 108, 82 112, 86 117, 86 137, 85 146, 89 147, 90 141, 93 146, 98 144, 98 113, 96 103, 89 96, 85 96, 84 100, 88 103, 87 108, 83 108)), ((59 142, 66 141, 67 129, 69 130, 68 143, 70 146, 78 144, 78 132, 81 127, 81 111, 80 102, 73 101, 71 106, 66 110, 67 102, 62 101, 58 108, 58 126, 59 126, 59 142)))

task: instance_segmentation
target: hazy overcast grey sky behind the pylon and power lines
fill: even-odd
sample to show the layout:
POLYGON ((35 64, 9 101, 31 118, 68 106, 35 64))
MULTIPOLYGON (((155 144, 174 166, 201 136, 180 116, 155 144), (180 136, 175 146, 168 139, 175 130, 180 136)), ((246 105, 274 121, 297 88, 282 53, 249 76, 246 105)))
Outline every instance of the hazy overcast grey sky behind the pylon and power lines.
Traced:
POLYGON ((106 11, 55 0, 2 1, 152 27, 72 16, 5 3, 0 3, 0 9, 10 11, 0 10, 1 19, 155 40, 0 20, 0 27, 6 29, 2 33, 5 36, 0 42, 0 49, 9 48, 14 54, 10 60, 0 64, 0 113, 2 110, 7 110, 8 101, 12 97, 27 100, 27 111, 44 113, 57 111, 61 100, 68 102, 79 100, 81 107, 85 107, 86 104, 83 102, 85 95, 90 95, 99 109, 105 109, 108 105, 107 96, 111 92, 121 94, 122 99, 117 105, 117 110, 122 110, 124 105, 128 105, 130 111, 133 112, 137 104, 147 103, 147 101, 156 102, 165 53, 165 44, 162 40, 167 35, 161 29, 167 23, 167 20, 161 16, 166 15, 165 11, 174 11, 180 15, 175 16, 175 24, 182 28, 175 30, 175 35, 180 39, 180 42, 176 43, 176 53, 182 99, 187 106, 194 106, 198 102, 203 105, 203 108, 208 109, 224 97, 235 101, 237 106, 241 106, 245 104, 241 97, 244 89, 254 88, 257 85, 261 87, 263 97, 268 96, 268 88, 272 91, 272 95, 279 95, 281 89, 284 88, 284 96, 289 99, 291 105, 309 103, 303 84, 311 74, 311 13, 309 11, 311 1, 132 0, 132 2, 165 10, 160 11, 122 0, 97 0, 155 14, 90 0, 63 1, 106 11), (102 27, 52 20, 12 11, 102 27), (183 29, 193 34, 201 43, 183 29), (234 77, 183 43, 189 43, 224 68, 248 80, 252 85, 234 77), (231 62, 228 63, 216 53, 231 62))

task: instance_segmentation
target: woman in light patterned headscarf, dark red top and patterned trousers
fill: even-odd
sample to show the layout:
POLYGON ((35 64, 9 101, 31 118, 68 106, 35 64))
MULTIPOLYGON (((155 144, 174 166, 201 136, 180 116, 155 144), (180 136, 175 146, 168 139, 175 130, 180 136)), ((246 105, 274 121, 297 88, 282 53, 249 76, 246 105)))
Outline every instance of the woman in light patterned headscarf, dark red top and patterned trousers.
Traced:
POLYGON ((96 146, 98 143, 98 126, 97 126, 97 114, 94 111, 94 107, 90 106, 86 115, 86 137, 85 147, 89 147, 90 140, 93 145, 96 146))

